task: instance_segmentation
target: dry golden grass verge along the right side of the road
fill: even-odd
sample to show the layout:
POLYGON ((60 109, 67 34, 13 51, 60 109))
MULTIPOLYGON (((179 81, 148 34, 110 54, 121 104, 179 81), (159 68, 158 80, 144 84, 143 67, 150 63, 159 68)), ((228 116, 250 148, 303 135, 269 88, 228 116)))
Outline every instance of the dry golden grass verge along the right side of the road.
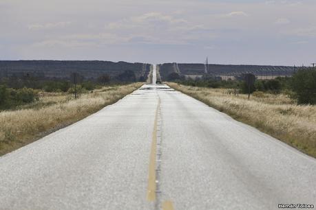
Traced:
POLYGON ((315 105, 297 105, 295 100, 283 94, 255 93, 248 101, 247 95, 228 95, 227 89, 168 84, 173 89, 316 157, 315 105))

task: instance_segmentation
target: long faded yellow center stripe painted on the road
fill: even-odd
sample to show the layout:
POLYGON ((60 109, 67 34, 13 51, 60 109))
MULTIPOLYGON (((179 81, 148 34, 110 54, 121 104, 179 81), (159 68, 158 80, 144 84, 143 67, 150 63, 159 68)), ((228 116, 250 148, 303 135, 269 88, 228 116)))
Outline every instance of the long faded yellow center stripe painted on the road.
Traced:
POLYGON ((151 152, 149 159, 149 176, 148 176, 148 188, 147 188, 147 200, 156 200, 156 152, 157 152, 157 120, 158 110, 160 107, 160 99, 156 108, 154 131, 151 141, 151 152))

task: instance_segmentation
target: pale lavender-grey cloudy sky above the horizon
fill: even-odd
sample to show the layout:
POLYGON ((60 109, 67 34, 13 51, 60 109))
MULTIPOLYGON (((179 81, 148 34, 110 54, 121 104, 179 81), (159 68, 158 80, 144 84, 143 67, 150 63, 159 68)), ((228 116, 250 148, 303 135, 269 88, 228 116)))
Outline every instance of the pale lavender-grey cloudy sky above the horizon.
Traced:
POLYGON ((0 60, 316 62, 315 0, 0 0, 0 60))

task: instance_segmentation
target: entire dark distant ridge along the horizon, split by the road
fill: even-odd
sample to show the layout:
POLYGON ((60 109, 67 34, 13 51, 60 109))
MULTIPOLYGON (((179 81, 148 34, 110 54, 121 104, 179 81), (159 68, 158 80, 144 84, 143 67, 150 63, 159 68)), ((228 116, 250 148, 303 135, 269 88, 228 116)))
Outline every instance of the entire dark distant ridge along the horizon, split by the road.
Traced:
MULTIPOLYGON (((204 64, 176 64, 165 63, 160 66, 160 76, 167 81, 171 73, 173 77, 201 77, 213 75, 231 78, 242 73, 255 75, 285 76, 292 75, 295 69, 286 66, 260 66, 260 65, 208 65, 204 64)), ((112 80, 145 81, 149 75, 150 65, 130 62, 110 62, 101 60, 0 60, 0 78, 41 78, 43 80, 70 80, 71 73, 78 73, 85 80, 96 80, 101 75, 109 75, 112 80), (131 73, 132 71, 132 73, 131 73)))

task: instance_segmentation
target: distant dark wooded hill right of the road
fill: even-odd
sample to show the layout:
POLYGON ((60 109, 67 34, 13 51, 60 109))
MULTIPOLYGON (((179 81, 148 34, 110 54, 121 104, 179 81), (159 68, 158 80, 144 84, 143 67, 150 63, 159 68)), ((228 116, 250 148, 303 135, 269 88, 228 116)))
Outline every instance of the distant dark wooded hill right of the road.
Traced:
POLYGON ((160 65, 160 76, 162 80, 168 80, 168 75, 171 73, 179 73, 180 75, 214 75, 238 76, 243 73, 253 73, 255 75, 292 75, 295 71, 294 67, 286 66, 262 66, 262 65, 214 65, 207 66, 204 64, 176 64, 165 63, 160 65))

